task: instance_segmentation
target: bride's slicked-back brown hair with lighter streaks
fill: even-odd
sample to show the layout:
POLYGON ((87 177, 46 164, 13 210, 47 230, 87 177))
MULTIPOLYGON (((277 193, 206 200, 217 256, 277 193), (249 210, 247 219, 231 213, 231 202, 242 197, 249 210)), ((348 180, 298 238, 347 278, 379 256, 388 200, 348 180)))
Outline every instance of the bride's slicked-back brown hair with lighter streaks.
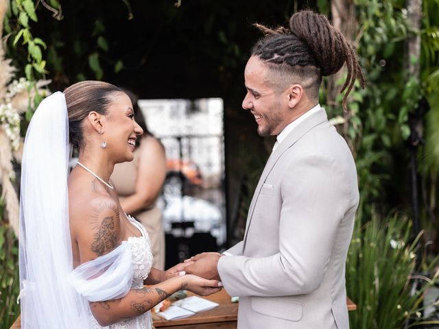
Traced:
POLYGON ((123 91, 117 86, 100 81, 78 82, 64 90, 69 112, 69 138, 73 147, 84 148, 82 121, 91 111, 108 114, 110 96, 114 93, 123 91))

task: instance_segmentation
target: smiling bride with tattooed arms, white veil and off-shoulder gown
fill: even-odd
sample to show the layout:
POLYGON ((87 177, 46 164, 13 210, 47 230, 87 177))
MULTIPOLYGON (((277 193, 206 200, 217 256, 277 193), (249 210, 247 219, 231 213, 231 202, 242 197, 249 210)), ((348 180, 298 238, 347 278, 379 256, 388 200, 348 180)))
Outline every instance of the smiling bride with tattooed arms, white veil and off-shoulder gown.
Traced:
POLYGON ((187 263, 152 268, 147 232, 123 212, 109 178, 142 133, 128 95, 105 82, 73 84, 34 113, 21 173, 21 328, 150 329, 150 309, 179 289, 221 289, 186 275, 187 263))

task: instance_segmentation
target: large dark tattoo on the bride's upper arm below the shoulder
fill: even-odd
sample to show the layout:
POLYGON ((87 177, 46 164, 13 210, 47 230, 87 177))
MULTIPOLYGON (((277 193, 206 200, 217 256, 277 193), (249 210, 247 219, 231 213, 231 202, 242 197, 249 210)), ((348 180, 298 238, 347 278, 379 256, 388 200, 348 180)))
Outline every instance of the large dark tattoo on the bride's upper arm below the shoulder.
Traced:
POLYGON ((99 222, 99 218, 102 218, 102 212, 107 214, 99 223, 99 226, 96 227, 97 232, 93 234, 95 241, 91 244, 91 251, 95 252, 98 256, 107 254, 112 249, 115 249, 118 241, 117 231, 120 225, 119 209, 117 209, 117 206, 103 204, 99 209, 95 210, 93 215, 94 221, 99 222), (113 215, 108 214, 108 212, 113 212, 113 215))

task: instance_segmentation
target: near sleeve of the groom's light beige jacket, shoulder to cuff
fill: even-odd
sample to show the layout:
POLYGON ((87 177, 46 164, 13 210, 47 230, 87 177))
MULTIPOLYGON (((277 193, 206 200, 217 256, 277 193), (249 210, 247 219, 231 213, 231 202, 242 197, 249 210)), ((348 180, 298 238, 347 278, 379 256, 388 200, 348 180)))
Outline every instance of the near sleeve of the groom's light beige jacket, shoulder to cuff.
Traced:
POLYGON ((281 182, 279 252, 265 258, 221 257, 218 271, 226 291, 233 296, 281 296, 316 290, 347 210, 344 181, 329 155, 292 160, 281 182))

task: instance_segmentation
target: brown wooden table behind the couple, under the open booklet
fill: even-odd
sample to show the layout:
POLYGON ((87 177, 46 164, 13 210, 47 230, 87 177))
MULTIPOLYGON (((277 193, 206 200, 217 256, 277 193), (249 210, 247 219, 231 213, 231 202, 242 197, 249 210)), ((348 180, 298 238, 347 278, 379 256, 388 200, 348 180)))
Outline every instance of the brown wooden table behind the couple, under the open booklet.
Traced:
MULTIPOLYGON (((193 295, 188 291, 188 296, 193 295)), ((238 303, 230 302, 230 296, 224 289, 219 293, 214 293, 208 297, 204 297, 212 302, 217 302, 219 306, 198 312, 191 317, 172 321, 154 321, 156 328, 175 328, 175 329, 235 329, 237 327, 238 303)), ((355 305, 349 298, 347 299, 348 310, 356 310, 355 305)), ((20 329, 20 317, 16 319, 10 329, 20 329)))

